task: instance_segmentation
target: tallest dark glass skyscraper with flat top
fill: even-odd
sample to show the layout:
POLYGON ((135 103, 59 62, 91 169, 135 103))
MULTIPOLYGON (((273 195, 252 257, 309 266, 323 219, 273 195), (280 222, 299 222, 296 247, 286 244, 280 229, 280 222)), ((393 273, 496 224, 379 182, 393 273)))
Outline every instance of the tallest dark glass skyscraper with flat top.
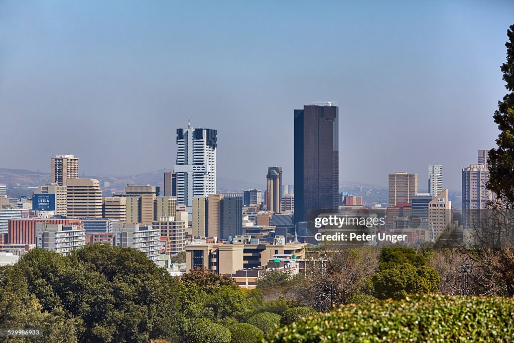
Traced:
POLYGON ((339 107, 332 102, 295 110, 295 222, 309 209, 337 209, 339 107))

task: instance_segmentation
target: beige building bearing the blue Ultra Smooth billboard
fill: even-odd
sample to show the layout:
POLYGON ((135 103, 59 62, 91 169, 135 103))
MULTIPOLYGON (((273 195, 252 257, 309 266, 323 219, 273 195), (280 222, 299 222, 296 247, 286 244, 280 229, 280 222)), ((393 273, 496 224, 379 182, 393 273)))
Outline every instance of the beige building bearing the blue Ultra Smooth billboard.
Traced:
POLYGON ((32 208, 38 211, 53 211, 66 216, 66 186, 47 184, 32 193, 32 208))

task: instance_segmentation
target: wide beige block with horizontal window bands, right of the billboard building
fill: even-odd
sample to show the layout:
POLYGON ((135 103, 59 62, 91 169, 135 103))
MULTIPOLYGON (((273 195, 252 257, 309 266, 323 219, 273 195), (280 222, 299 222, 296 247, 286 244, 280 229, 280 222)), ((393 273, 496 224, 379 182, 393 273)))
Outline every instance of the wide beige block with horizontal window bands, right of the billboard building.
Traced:
POLYGON ((102 218, 102 190, 96 178, 68 178, 66 216, 102 218))

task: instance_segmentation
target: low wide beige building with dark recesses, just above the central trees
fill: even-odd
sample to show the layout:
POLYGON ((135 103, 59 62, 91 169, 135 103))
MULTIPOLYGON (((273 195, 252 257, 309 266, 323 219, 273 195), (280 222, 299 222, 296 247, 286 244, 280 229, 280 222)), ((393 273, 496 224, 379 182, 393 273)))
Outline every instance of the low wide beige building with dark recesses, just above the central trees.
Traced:
POLYGON ((273 243, 248 244, 248 239, 243 239, 243 243, 239 241, 234 240, 234 244, 186 245, 186 272, 205 267, 218 274, 233 274, 243 268, 267 265, 274 255, 292 255, 295 259, 303 259, 307 246, 304 243, 286 243, 283 236, 277 236, 273 243))

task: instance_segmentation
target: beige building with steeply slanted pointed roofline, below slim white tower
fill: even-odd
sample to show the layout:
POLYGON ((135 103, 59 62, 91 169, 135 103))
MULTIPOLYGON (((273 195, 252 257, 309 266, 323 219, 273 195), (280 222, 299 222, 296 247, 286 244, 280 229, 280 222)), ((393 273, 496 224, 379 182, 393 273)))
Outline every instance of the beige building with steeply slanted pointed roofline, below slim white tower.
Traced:
POLYGON ((451 201, 448 200, 448 189, 445 189, 428 203, 429 240, 439 237, 450 227, 451 220, 451 201))

